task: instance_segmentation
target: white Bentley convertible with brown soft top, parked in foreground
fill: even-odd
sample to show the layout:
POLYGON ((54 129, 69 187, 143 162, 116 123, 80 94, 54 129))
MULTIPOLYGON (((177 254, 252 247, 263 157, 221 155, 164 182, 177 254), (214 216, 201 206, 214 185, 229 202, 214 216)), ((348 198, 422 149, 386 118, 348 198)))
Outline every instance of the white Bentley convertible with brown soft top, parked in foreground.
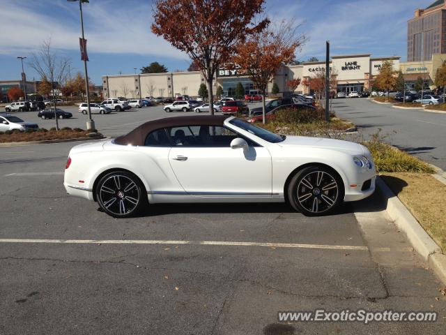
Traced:
POLYGON ((226 116, 168 117, 70 151, 64 185, 114 217, 160 202, 289 202, 308 216, 367 198, 376 170, 353 142, 270 133, 226 116))

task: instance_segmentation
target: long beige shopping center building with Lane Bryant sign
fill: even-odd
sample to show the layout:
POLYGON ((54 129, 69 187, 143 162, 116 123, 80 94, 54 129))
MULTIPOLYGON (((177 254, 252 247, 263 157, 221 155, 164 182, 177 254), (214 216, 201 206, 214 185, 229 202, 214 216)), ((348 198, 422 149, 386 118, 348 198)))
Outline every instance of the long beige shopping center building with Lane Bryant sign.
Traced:
MULTIPOLYGON (((371 57, 371 54, 351 54, 333 56, 330 61, 330 73, 336 82, 337 91, 364 91, 371 89, 371 84, 383 61, 392 61, 395 70, 399 70, 400 57, 371 57)), ((226 67, 227 68, 227 67, 226 67)), ((233 96, 238 82, 245 87, 245 94, 257 93, 254 83, 249 77, 239 75, 237 68, 228 70, 221 68, 215 78, 214 93, 217 86, 222 87, 224 96, 233 96)), ((286 82, 300 78, 301 83, 295 90, 309 94, 309 80, 325 71, 325 62, 305 62, 299 65, 282 66, 268 84, 271 92, 274 83, 281 94, 289 94, 286 82)), ((199 71, 174 73, 146 73, 137 75, 105 75, 102 76, 103 96, 126 98, 144 98, 145 96, 174 97, 178 94, 197 96, 201 83, 205 80, 199 71)), ((334 88, 332 88, 334 90, 334 88)))

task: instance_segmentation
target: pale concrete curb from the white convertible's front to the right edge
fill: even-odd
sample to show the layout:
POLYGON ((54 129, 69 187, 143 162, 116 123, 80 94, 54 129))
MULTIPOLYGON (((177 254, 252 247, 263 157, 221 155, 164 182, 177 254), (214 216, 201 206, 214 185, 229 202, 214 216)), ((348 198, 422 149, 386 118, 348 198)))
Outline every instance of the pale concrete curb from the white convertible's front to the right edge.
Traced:
POLYGON ((422 256, 428 267, 440 278, 440 281, 446 284, 446 255, 442 253, 440 246, 427 234, 383 179, 376 178, 376 184, 384 200, 387 201, 387 215, 399 230, 406 233, 415 251, 422 256))

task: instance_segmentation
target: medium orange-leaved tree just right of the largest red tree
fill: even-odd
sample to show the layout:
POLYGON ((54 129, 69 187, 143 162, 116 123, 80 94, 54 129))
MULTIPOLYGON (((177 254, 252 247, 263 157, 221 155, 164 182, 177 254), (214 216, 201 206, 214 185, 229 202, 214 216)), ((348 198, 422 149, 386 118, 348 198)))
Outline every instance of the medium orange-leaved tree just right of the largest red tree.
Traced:
POLYGON ((233 63, 241 75, 248 75, 263 96, 263 124, 265 123, 265 94, 268 82, 283 64, 295 58, 295 51, 305 42, 305 36, 295 34, 297 27, 284 21, 278 27, 268 27, 238 45, 233 63))

